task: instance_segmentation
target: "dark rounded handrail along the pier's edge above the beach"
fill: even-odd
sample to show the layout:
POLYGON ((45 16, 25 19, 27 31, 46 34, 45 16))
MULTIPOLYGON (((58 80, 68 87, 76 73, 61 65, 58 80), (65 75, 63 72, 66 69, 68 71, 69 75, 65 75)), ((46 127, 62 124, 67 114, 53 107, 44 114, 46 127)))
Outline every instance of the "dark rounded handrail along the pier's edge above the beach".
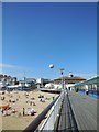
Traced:
MULTIPOLYGON (((59 97, 59 96, 58 96, 59 97)), ((53 100, 53 102, 51 102, 46 109, 40 113, 34 121, 31 122, 31 124, 29 127, 25 128, 25 130, 23 130, 23 132, 34 132, 37 127, 40 125, 40 123, 42 122, 43 119, 45 119, 46 113, 50 111, 50 109, 52 108, 52 106, 56 102, 56 100, 58 99, 58 97, 56 97, 55 100, 53 100)))

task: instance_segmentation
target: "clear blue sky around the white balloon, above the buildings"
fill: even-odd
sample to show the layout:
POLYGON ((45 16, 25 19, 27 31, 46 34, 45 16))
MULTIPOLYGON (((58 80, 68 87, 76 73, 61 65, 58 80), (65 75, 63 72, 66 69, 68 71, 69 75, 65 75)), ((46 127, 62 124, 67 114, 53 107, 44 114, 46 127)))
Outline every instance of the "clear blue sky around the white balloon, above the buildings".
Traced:
POLYGON ((97 3, 9 2, 2 22, 3 73, 56 78, 65 68, 64 75, 96 75, 97 3))

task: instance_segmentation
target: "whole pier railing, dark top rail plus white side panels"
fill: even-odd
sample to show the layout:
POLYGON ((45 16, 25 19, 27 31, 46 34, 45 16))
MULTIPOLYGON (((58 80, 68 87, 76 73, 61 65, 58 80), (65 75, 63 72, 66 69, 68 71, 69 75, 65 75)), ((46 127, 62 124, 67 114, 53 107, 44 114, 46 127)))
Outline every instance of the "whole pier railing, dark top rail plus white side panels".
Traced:
POLYGON ((54 124, 58 116, 58 111, 61 109, 63 98, 64 98, 64 94, 61 92, 61 95, 57 98, 55 98, 53 102, 50 103, 47 108, 42 113, 40 113, 35 118, 35 120, 31 122, 29 127, 25 128, 25 130, 23 130, 23 132, 38 132, 43 130, 54 130, 54 124), (44 122, 43 124, 41 124, 43 120, 44 122))

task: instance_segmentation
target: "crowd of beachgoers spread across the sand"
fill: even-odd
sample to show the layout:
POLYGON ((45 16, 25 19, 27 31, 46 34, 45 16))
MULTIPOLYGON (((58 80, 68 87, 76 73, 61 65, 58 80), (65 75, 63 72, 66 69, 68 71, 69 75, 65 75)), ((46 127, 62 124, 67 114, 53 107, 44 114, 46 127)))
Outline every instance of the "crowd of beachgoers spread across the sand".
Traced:
POLYGON ((19 95, 16 91, 6 91, 6 94, 0 95, 0 100, 2 105, 0 105, 0 113, 1 116, 34 116, 37 111, 35 110, 36 100, 40 102, 45 102, 50 100, 50 98, 44 97, 43 95, 38 95, 36 98, 30 92, 24 92, 19 95), (20 106, 22 98, 24 98, 24 106, 20 106), (18 108, 20 106, 20 108, 18 108))

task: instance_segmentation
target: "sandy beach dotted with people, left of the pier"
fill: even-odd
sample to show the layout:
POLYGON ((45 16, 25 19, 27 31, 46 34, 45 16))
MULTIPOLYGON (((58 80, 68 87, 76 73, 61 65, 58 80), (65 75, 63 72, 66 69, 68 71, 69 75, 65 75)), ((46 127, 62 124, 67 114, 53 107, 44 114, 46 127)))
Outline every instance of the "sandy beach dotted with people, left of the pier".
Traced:
POLYGON ((1 130, 24 130, 53 101, 53 97, 57 95, 40 90, 0 95, 0 106, 9 106, 8 110, 0 109, 1 130))

